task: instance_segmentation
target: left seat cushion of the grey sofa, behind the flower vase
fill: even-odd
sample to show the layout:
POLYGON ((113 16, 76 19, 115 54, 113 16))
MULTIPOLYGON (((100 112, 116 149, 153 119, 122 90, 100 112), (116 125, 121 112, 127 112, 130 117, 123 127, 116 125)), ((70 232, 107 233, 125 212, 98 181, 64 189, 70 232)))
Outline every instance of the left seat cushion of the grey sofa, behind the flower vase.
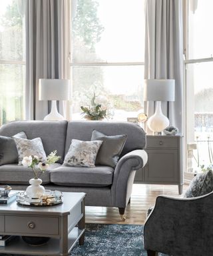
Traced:
MULTIPOLYGON (((59 163, 54 163, 49 166, 42 175, 42 184, 50 183, 51 169, 60 167, 59 163)), ((0 183, 1 184, 26 184, 29 185, 29 179, 33 178, 34 174, 31 168, 24 167, 23 165, 10 164, 0 166, 0 183)))

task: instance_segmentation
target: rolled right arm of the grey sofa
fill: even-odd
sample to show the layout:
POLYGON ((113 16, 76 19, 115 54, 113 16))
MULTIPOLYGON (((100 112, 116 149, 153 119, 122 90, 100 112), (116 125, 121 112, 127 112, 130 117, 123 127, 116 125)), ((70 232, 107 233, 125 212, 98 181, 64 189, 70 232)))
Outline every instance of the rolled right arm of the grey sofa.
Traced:
POLYGON ((147 159, 147 153, 142 149, 131 151, 120 158, 114 169, 111 188, 112 205, 126 207, 132 193, 135 171, 144 167, 147 159))

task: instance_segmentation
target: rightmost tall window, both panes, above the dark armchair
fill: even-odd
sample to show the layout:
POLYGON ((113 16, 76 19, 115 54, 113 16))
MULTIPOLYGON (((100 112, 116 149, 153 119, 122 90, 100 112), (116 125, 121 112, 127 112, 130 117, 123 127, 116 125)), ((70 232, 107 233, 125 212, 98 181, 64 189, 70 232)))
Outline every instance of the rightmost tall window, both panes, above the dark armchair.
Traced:
POLYGON ((213 163, 213 1, 188 1, 186 143, 188 171, 213 163))

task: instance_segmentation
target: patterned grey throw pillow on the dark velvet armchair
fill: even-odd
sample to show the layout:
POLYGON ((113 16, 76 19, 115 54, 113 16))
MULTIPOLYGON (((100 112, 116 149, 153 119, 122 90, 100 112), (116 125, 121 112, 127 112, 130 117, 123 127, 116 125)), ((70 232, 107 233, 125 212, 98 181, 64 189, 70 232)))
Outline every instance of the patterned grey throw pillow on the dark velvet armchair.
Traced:
POLYGON ((212 170, 198 173, 192 179, 184 197, 199 197, 213 191, 213 172, 212 170))

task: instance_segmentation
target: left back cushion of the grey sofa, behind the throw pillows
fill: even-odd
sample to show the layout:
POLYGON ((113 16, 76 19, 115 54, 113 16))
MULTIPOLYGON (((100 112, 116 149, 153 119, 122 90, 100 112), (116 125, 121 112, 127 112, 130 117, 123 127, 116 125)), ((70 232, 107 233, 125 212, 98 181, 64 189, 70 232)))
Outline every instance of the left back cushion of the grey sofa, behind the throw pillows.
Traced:
POLYGON ((28 139, 40 137, 46 155, 57 150, 57 155, 61 156, 58 162, 63 163, 67 121, 13 121, 1 127, 0 135, 12 137, 19 131, 25 131, 28 139))

